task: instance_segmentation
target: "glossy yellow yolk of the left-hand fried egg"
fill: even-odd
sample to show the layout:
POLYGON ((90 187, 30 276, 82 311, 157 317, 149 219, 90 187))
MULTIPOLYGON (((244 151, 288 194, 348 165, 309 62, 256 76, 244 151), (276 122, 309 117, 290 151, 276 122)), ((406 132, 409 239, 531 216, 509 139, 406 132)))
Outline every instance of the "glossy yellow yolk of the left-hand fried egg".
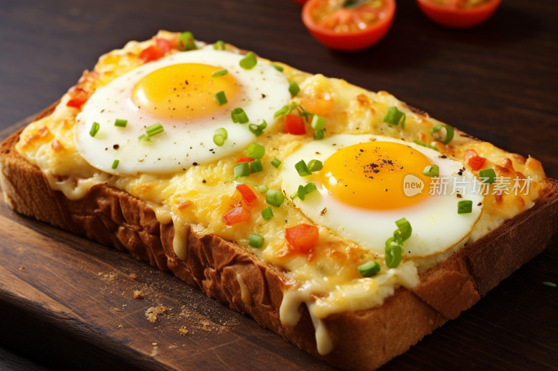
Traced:
POLYGON ((201 63, 168 65, 146 75, 133 88, 132 100, 156 118, 192 120, 223 111, 234 105, 239 83, 230 73, 211 77, 223 68, 201 63), (223 91, 227 104, 218 104, 223 91))

